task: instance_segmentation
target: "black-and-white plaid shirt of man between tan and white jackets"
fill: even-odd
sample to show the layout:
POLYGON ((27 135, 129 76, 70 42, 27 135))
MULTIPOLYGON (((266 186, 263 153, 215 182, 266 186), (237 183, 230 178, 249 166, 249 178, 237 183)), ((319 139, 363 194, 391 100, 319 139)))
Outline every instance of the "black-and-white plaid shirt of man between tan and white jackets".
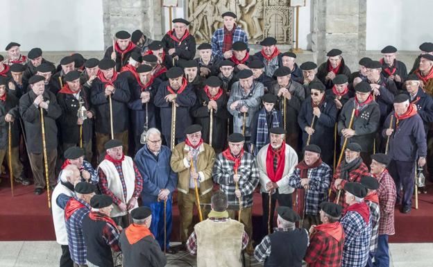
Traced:
MULTIPOLYGON (((239 205, 239 199, 235 195, 235 181, 233 180, 233 175, 235 175, 234 165, 235 162, 227 160, 223 153, 219 153, 212 171, 214 182, 219 184, 221 191, 227 195, 228 205, 239 205)), ((238 184, 241 191, 242 207, 252 207, 253 192, 257 184, 259 184, 259 171, 255 166, 253 155, 248 152, 244 153, 237 173, 241 175, 238 184)))

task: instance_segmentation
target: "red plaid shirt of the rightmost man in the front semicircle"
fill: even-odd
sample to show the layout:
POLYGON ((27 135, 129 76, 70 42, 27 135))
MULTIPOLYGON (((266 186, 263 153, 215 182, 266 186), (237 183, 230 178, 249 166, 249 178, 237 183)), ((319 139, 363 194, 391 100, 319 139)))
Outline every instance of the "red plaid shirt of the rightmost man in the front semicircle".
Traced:
POLYGON ((377 196, 379 196, 380 205, 379 234, 395 234, 394 205, 396 205, 397 197, 396 184, 387 169, 380 173, 377 180, 379 181, 377 196))

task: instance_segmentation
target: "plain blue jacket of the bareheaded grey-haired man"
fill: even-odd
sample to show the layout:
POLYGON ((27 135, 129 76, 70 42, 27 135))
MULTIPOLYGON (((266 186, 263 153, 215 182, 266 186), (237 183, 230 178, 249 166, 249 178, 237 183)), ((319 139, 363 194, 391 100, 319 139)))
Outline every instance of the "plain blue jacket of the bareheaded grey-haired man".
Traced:
POLYGON ((143 205, 149 205, 158 201, 160 189, 169 189, 171 198, 176 185, 178 175, 170 166, 171 151, 167 146, 161 146, 158 160, 144 145, 135 155, 135 164, 143 178, 142 201, 143 205))

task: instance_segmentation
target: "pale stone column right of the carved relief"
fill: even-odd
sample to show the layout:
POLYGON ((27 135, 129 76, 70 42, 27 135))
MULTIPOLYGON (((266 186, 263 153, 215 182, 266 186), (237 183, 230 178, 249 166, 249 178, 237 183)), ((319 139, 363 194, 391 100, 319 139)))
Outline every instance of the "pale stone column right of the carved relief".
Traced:
POLYGON ((312 51, 318 64, 337 48, 350 70, 357 70, 366 50, 366 5, 366 0, 312 0, 312 51))

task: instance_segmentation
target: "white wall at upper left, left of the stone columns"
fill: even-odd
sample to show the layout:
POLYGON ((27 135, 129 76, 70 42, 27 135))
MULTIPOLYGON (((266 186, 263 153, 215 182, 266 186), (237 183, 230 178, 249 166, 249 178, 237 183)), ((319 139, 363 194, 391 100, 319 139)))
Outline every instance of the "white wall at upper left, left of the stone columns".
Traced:
POLYGON ((101 51, 102 14, 102 0, 1 1, 0 51, 9 42, 22 51, 101 51))

